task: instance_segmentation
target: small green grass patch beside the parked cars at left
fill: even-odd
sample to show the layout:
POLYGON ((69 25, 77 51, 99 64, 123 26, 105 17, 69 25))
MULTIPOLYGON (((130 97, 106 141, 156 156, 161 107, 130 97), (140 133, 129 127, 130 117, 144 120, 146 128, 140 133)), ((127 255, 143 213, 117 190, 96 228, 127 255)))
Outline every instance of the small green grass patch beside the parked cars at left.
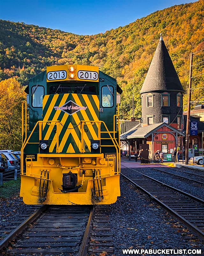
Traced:
POLYGON ((9 198, 12 196, 17 196, 20 191, 20 178, 17 180, 10 180, 3 182, 3 186, 0 186, 0 197, 9 198))

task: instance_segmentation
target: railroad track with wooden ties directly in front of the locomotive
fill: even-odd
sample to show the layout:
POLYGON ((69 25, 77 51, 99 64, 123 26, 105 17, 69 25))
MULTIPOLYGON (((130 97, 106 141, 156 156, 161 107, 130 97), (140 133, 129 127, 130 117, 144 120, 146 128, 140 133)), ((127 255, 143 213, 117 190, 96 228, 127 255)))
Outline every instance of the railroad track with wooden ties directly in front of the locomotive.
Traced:
POLYGON ((42 206, 4 238, 0 251, 11 256, 35 253, 86 256, 88 251, 113 252, 108 208, 42 206), (13 239, 12 248, 6 248, 13 239))

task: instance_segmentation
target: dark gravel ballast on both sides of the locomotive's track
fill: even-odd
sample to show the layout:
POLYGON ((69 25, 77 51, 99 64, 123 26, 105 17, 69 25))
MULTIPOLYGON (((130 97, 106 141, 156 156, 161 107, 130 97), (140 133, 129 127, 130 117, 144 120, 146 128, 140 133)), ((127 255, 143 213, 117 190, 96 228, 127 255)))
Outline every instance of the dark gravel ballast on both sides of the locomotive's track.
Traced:
MULTIPOLYGON (((114 234, 114 254, 101 252, 102 256, 122 256, 125 255, 122 250, 128 248, 147 250, 202 249, 202 253, 204 252, 203 242, 155 204, 151 198, 135 189, 123 177, 120 177, 120 189, 121 196, 118 197, 115 204, 110 205, 110 226, 112 227, 111 232, 114 234)), ((12 221, 16 220, 16 216, 23 214, 30 208, 29 205, 23 203, 22 198, 19 197, 19 192, 9 199, 0 198, 0 203, 1 230, 7 226, 12 226, 12 221)), ((99 256, 100 253, 89 256, 91 255, 99 256)), ((164 254, 156 255, 162 256, 164 254)))

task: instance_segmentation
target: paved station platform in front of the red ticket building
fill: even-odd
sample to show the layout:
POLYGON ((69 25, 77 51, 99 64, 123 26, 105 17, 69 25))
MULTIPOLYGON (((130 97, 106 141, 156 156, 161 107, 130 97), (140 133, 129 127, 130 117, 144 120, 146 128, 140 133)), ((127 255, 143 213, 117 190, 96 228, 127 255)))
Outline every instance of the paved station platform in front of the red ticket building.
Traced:
POLYGON ((202 167, 202 165, 197 165, 197 164, 185 164, 182 163, 182 161, 178 162, 178 163, 174 163, 174 162, 167 162, 164 160, 163 164, 157 164, 157 163, 150 163, 150 164, 141 164, 140 160, 137 160, 137 162, 135 162, 134 158, 131 158, 131 160, 129 160, 128 158, 120 158, 120 169, 124 169, 126 167, 129 168, 145 168, 145 167, 177 167, 177 168, 181 168, 181 167, 187 167, 187 168, 192 168, 192 169, 198 169, 204 172, 204 167, 202 167))

